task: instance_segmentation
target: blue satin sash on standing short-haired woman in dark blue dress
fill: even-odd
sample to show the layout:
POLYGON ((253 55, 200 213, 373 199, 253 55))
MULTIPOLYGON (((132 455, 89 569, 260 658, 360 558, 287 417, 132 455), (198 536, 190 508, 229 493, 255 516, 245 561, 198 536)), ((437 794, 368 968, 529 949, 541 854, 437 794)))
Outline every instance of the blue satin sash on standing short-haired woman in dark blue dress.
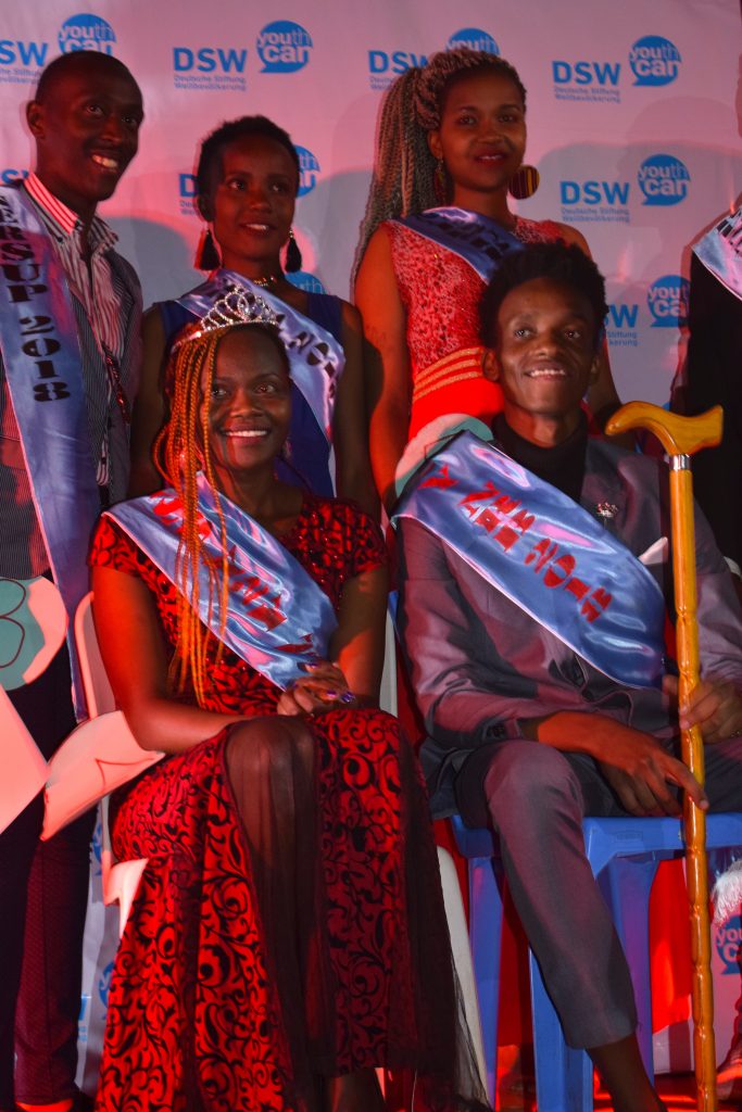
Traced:
POLYGON ((276 315, 291 364, 291 378, 308 403, 326 443, 330 444, 337 384, 345 368, 343 348, 332 332, 235 270, 216 270, 207 282, 178 301, 189 312, 202 317, 234 286, 263 298, 276 315))

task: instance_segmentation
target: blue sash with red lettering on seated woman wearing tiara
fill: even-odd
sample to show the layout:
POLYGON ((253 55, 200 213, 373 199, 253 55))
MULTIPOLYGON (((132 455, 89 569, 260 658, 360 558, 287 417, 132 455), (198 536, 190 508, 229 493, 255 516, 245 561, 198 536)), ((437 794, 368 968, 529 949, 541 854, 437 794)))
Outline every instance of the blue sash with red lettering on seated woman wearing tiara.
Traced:
MULTIPOLYGON (((220 599, 211 597, 205 566, 199 568, 199 617, 250 667, 277 687, 289 687, 306 675, 303 665, 327 659, 329 638, 337 626, 333 604, 276 537, 224 495, 218 498, 229 552, 229 600, 224 633, 220 599)), ((220 569, 219 515, 202 475, 198 477, 198 509, 207 555, 220 569)), ((179 590, 178 546, 184 513, 175 490, 119 503, 106 510, 106 515, 126 529, 179 590)))

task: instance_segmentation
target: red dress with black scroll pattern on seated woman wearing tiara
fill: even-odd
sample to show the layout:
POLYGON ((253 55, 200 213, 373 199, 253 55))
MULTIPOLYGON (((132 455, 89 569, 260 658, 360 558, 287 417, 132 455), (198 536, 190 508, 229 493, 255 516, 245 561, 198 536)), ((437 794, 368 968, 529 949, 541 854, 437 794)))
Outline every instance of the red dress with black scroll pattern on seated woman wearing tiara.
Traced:
MULTIPOLYGON (((346 579, 385 559, 369 518, 315 496, 305 496, 281 542, 336 608, 346 579)), ((172 646, 175 587, 106 518, 90 562, 145 582, 172 646)), ((275 713, 279 691, 228 649, 209 671, 210 708, 246 718, 275 713)), ((326 1076, 379 1065, 418 1070, 416 1109, 477 1108, 454 1096, 447 929, 414 757, 397 722, 379 711, 335 709, 308 722, 316 806, 306 838, 314 842, 317 935, 300 1005, 308 1069, 326 1076)), ((113 798, 117 857, 147 857, 148 865, 113 971, 99 1112, 319 1106, 296 1081, 226 772, 228 734, 165 758, 113 798)))

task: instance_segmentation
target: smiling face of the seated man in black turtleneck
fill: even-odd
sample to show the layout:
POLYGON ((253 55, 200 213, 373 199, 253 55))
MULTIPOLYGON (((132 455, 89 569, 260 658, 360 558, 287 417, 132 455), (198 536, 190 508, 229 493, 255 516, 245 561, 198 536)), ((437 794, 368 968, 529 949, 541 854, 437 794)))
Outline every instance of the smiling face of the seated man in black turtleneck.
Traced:
POLYGON ((511 428, 540 444, 574 431, 596 373, 597 328, 588 299, 572 286, 535 278, 511 289, 485 365, 502 387, 511 428))

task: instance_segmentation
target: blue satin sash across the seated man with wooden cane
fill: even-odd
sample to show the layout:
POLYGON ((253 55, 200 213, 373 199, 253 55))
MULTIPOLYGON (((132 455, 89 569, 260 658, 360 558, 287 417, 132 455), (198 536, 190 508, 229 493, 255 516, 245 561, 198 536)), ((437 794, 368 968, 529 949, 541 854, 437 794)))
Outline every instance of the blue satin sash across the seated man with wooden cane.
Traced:
POLYGON ((461 433, 419 471, 412 517, 600 672, 662 683, 664 599, 636 557, 572 498, 461 433))

